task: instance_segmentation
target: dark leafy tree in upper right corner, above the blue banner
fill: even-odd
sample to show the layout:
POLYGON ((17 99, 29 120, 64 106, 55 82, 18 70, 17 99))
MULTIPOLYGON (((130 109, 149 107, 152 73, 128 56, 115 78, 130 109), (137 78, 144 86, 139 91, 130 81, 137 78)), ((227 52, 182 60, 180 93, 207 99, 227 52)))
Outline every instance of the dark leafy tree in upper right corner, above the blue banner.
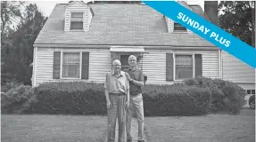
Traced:
POLYGON ((221 13, 219 14, 219 27, 252 45, 252 31, 255 29, 255 21, 252 20, 254 9, 252 1, 221 1, 219 3, 219 13, 221 13))

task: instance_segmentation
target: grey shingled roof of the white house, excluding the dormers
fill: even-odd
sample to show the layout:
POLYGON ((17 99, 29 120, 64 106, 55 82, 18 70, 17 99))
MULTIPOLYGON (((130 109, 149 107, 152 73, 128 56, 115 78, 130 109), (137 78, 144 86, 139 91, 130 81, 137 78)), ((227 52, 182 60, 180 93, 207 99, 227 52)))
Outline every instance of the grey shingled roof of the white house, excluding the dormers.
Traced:
POLYGON ((67 4, 56 4, 35 44, 214 46, 195 34, 168 33, 164 16, 143 4, 89 4, 88 32, 64 32, 67 4))

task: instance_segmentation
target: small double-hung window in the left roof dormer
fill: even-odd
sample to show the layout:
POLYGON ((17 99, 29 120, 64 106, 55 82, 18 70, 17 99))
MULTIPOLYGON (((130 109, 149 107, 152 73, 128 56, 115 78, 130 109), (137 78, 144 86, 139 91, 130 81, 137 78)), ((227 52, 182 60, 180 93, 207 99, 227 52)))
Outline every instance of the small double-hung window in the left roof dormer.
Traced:
POLYGON ((70 30, 83 30, 83 12, 71 12, 70 30))

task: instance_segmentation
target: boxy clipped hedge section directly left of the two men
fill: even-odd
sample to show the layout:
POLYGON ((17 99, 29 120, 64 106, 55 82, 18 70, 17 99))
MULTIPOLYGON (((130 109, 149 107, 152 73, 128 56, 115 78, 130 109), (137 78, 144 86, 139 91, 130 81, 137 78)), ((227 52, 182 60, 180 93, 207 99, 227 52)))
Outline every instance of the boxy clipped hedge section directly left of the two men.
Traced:
POLYGON ((103 84, 45 83, 36 89, 37 100, 29 108, 37 114, 106 114, 103 84))

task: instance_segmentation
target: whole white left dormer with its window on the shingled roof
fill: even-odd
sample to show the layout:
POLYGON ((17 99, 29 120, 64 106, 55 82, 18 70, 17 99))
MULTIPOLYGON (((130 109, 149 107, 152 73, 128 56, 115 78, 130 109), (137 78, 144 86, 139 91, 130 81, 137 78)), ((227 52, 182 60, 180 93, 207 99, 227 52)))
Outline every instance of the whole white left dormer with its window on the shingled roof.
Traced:
POLYGON ((65 9, 64 31, 89 31, 93 16, 92 8, 84 2, 70 2, 65 9))

